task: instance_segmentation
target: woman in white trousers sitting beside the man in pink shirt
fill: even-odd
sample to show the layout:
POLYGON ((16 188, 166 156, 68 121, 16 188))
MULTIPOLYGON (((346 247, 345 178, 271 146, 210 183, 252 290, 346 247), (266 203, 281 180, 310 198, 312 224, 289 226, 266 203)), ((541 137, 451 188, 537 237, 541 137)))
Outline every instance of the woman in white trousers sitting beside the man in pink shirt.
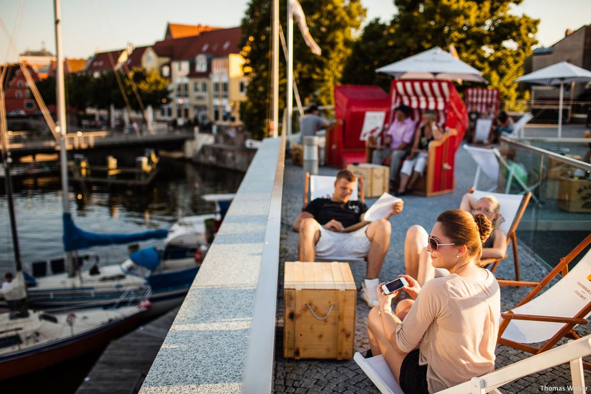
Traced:
POLYGON ((441 135, 435 111, 423 112, 423 125, 414 133, 413 148, 402 162, 397 196, 403 196, 413 190, 415 182, 423 176, 427 168, 429 142, 441 139, 441 135))

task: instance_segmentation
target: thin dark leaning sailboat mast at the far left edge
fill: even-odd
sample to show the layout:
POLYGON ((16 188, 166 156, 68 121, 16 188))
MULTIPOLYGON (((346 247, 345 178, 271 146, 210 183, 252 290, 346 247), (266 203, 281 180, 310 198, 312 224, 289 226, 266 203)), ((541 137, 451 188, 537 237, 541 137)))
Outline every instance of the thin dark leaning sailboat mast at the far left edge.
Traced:
MULTIPOLYGON (((6 67, 6 66, 5 66, 6 67)), ((2 73, 4 76, 4 73, 2 73)), ((0 135, 2 136, 2 163, 4 164, 4 183, 8 200, 8 214, 10 216, 10 230, 12 233, 12 249, 17 272, 22 271, 21 249, 18 246, 17 219, 14 214, 14 200, 12 200, 12 181, 10 179, 10 164, 12 158, 8 149, 8 126, 6 123, 6 106, 4 102, 4 79, 0 78, 0 135)))

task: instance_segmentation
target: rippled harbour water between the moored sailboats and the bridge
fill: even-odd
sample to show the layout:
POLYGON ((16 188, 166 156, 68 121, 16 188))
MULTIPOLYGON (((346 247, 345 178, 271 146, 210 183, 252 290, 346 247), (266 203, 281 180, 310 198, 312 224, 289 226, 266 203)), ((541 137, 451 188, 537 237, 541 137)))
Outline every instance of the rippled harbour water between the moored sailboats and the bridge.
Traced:
MULTIPOLYGON (((22 261, 60 258, 61 184, 56 164, 40 164, 37 169, 15 168, 13 180, 15 209, 22 261)), ((188 162, 160 161, 157 177, 147 188, 108 188, 70 181, 70 211, 80 228, 102 233, 142 232, 168 229, 179 216, 212 213, 213 203, 201 196, 208 193, 235 193, 243 174, 199 167, 188 162)), ((0 272, 14 271, 4 180, 0 182, 0 272)), ((162 240, 142 242, 161 245, 162 240)), ((95 253, 100 265, 122 262, 126 245, 98 246, 84 253, 95 253)))

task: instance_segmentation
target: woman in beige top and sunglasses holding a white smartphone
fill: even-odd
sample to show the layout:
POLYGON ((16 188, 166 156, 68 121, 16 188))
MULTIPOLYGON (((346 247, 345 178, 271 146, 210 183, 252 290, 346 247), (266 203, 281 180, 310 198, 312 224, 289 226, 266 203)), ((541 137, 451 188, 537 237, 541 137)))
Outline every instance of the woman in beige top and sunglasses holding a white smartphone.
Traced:
POLYGON ((408 275, 412 299, 392 312, 396 292, 376 288, 379 306, 368 317, 371 352, 382 354, 405 394, 434 393, 492 372, 501 315, 499 284, 479 268, 482 242, 492 232, 483 214, 447 210, 431 230, 428 252, 450 275, 423 288, 408 275))

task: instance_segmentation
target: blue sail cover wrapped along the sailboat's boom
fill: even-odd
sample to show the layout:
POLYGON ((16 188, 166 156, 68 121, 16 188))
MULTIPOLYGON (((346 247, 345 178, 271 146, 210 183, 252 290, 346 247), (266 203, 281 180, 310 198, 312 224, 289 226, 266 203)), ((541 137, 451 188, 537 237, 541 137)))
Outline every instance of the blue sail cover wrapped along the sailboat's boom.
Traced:
POLYGON ((165 238, 168 230, 151 230, 133 234, 101 234, 90 233, 79 229, 72 220, 72 214, 63 214, 64 235, 62 241, 66 252, 72 250, 88 249, 92 246, 112 245, 113 243, 131 243, 152 238, 165 238))

